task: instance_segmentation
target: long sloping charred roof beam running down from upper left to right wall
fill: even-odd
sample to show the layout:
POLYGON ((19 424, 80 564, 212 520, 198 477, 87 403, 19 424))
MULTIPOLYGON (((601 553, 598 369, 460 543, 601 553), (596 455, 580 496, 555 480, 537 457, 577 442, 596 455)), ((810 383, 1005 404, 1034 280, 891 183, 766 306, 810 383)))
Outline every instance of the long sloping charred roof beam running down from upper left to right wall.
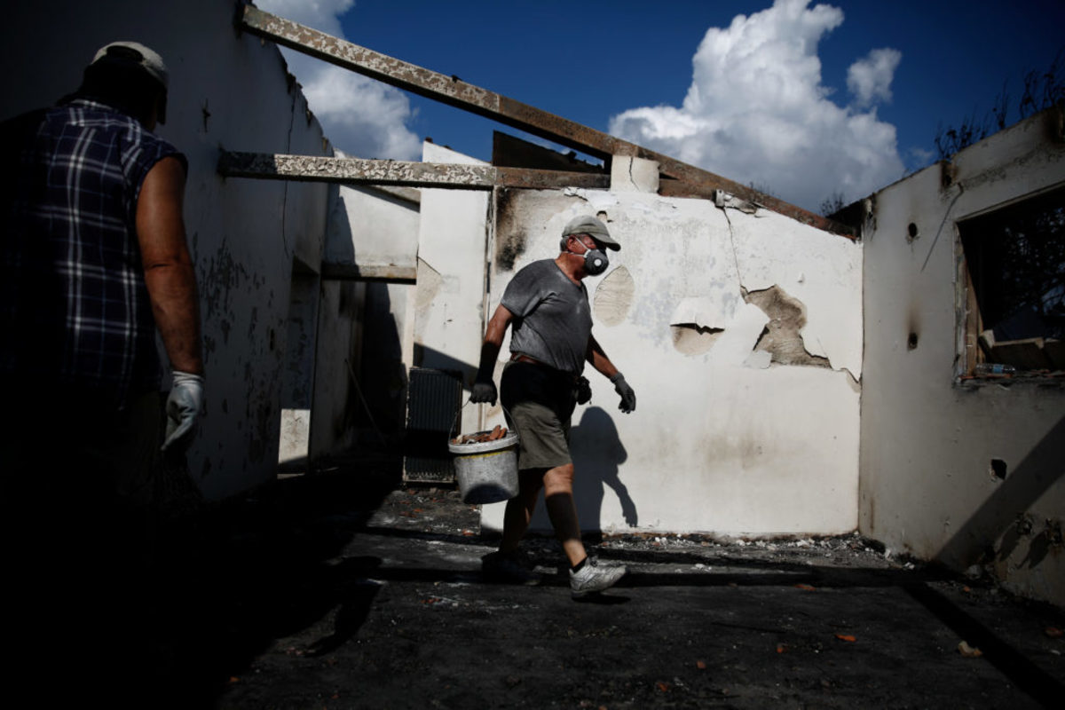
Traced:
POLYGON ((613 155, 656 161, 665 178, 659 191, 663 196, 712 199, 715 191, 724 191, 824 231, 847 236, 855 233, 851 227, 669 155, 468 84, 458 77, 439 73, 272 15, 255 5, 243 6, 237 13, 236 24, 239 29, 283 47, 602 159, 607 167, 613 155))

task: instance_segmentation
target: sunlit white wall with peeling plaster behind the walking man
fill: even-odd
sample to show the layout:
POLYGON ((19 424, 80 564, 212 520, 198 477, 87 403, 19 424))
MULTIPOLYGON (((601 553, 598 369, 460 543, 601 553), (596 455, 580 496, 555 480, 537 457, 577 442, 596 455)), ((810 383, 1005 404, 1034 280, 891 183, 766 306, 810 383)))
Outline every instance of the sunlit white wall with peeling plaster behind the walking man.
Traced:
MULTIPOLYGON (((490 310, 517 269, 557 255, 571 217, 599 213, 622 244, 607 274, 585 283, 593 333, 636 390, 637 410, 620 413, 612 385, 589 368, 593 398, 577 408, 572 436, 584 529, 855 528, 858 392, 848 370, 861 373, 858 245, 707 200, 512 191, 497 204, 496 244, 520 257, 513 269, 496 262, 490 310), (768 318, 740 290, 772 284, 804 300, 808 331, 818 334, 809 349, 833 368, 752 357, 768 318), (720 332, 689 333, 698 347, 682 352, 671 326, 692 323, 720 332)), ((502 420, 498 408, 488 417, 502 420)), ((502 527, 502 509, 486 506, 482 525, 502 527)), ((534 527, 548 527, 542 511, 534 527)))

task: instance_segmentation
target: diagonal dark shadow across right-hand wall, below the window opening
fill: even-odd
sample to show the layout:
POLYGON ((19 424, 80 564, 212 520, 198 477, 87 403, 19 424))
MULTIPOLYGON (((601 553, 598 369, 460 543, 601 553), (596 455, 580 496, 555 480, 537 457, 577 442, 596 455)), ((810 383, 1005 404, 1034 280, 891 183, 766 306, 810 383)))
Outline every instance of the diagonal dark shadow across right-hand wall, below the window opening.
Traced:
MULTIPOLYGON (((1023 526, 1026 511, 1065 475, 1063 455, 1065 417, 1047 432, 1025 460, 1006 475, 998 491, 947 541, 936 555, 936 561, 954 568, 989 561, 994 556, 995 542, 1003 535, 1003 549, 999 556, 1007 558, 1026 536, 1018 534, 1018 525, 1023 526)), ((1034 549, 1029 551, 1028 566, 1035 566, 1043 559, 1038 554, 1043 525, 1044 522, 1037 522, 1029 531, 1034 534, 1031 543, 1034 549)))

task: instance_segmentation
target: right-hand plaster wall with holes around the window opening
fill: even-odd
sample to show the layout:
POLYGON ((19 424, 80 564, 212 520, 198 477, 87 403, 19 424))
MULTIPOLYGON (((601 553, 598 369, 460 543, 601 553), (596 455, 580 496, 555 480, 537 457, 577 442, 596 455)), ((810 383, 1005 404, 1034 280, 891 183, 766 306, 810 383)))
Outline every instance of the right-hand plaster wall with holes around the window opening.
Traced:
POLYGON ((987 562, 1017 592, 1061 605, 1065 562, 1038 535, 1065 517, 1065 389, 954 383, 956 222, 1063 185, 1059 120, 1049 112, 966 149, 947 188, 935 165, 871 198, 861 529, 957 568, 987 562), (1006 462, 1005 480, 993 458, 1006 462), (1036 525, 1018 536, 1022 514, 1036 525))

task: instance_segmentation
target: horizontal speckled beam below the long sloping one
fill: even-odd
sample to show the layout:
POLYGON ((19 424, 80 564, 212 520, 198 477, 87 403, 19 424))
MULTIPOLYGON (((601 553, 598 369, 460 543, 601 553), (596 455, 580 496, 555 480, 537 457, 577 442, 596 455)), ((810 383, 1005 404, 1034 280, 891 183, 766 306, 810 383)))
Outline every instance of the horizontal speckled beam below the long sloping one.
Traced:
POLYGON ((218 156, 218 172, 229 178, 337 182, 356 185, 403 185, 442 189, 607 188, 610 186, 609 176, 589 172, 530 170, 458 163, 245 153, 226 150, 222 151, 218 156))

